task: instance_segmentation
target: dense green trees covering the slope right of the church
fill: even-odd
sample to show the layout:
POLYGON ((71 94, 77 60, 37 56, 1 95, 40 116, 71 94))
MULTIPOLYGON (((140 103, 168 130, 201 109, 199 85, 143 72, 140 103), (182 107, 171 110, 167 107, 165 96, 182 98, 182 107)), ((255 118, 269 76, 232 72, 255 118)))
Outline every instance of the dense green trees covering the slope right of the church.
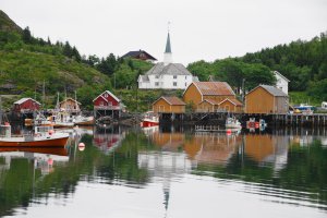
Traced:
MULTIPOLYGON (((201 80, 214 76, 232 86, 251 89, 259 83, 274 84, 269 71, 279 71, 291 82, 291 92, 303 92, 313 102, 327 100, 327 35, 320 34, 310 41, 296 40, 289 45, 266 48, 240 58, 214 62, 197 61, 189 70, 201 80)), ((294 94, 295 95, 295 94, 294 94)), ((291 96, 292 97, 292 96, 291 96)), ((306 102, 299 101, 299 102, 306 102)), ((295 100, 296 101, 296 100, 295 100)), ((298 101, 296 101, 298 102, 298 101)))

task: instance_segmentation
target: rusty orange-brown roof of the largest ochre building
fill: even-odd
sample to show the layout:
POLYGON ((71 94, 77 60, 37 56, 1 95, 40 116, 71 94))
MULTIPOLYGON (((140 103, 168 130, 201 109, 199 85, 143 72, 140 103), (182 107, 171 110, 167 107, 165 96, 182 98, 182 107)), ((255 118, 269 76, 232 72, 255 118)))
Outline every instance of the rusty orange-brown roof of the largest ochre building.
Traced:
POLYGON ((193 82, 192 84, 196 86, 196 88, 202 95, 210 95, 210 96, 226 96, 226 95, 234 96, 235 95, 233 89, 226 82, 193 82))

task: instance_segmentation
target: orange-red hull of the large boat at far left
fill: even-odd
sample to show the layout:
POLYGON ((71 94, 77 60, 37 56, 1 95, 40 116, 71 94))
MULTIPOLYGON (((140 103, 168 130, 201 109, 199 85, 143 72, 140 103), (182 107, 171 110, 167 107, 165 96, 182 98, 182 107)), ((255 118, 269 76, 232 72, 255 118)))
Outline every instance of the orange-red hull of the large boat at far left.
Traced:
POLYGON ((10 141, 0 138, 0 146, 4 147, 63 147, 69 136, 37 138, 33 141, 24 141, 21 137, 10 141))

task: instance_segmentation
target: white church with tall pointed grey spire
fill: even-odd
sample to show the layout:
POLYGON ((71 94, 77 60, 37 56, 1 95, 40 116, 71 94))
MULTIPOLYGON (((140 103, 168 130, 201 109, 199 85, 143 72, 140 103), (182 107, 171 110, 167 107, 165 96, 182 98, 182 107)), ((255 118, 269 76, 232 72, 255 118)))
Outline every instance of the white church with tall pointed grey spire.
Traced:
POLYGON ((183 64, 172 62, 169 32, 164 62, 157 63, 137 80, 141 89, 185 89, 196 81, 197 76, 193 76, 183 64))

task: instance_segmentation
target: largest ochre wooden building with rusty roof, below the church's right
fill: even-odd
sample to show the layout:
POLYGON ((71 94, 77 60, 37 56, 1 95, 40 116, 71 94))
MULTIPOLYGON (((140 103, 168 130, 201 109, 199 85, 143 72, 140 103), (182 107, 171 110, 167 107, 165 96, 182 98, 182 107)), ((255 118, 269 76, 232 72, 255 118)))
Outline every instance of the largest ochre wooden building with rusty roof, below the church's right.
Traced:
POLYGON ((184 102, 191 104, 194 110, 205 99, 221 102, 226 98, 235 99, 233 89, 226 82, 193 82, 183 94, 184 102))

